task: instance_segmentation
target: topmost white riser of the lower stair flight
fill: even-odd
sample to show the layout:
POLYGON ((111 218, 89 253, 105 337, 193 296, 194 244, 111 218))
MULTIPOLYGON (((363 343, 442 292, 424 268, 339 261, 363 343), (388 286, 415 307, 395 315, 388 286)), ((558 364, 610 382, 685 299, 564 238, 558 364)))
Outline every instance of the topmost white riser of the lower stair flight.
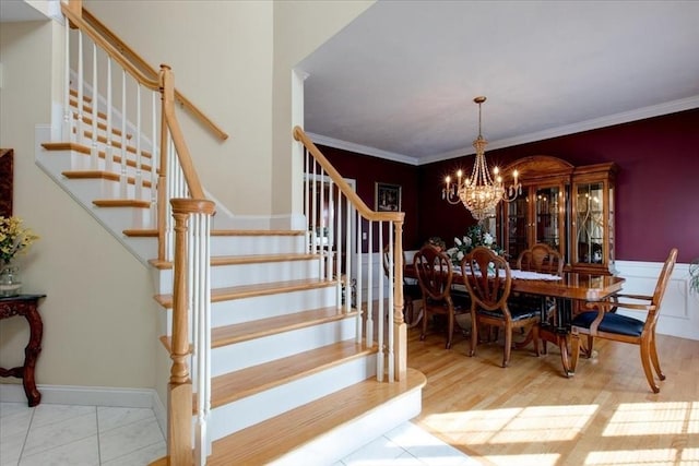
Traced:
POLYGON ((304 252, 303 236, 212 236, 211 255, 283 254, 304 252))

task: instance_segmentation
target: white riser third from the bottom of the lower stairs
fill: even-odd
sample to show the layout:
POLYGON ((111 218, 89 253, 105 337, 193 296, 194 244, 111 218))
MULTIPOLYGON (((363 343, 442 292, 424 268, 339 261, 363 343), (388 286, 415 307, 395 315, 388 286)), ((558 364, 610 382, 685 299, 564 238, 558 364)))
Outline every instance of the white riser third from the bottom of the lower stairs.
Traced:
POLYGON ((216 377, 350 339, 355 336, 356 326, 356 319, 347 318, 213 348, 211 373, 216 377))

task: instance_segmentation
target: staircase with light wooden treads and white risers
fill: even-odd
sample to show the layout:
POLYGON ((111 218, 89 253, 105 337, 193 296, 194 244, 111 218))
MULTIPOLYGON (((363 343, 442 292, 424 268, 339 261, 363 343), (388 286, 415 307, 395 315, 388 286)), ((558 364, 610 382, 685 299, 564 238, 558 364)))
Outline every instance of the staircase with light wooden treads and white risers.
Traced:
MULTIPOLYGON (((205 379, 204 392, 194 389, 191 419, 178 423, 168 413, 169 456, 159 464, 178 464, 171 443, 179 430, 185 437, 193 432, 188 464, 330 465, 415 417, 425 377, 407 369, 400 380, 386 381, 392 354, 377 342, 393 332, 391 325, 376 331, 371 321, 384 320, 383 314, 363 306, 376 314, 370 318, 343 304, 345 283, 325 272, 327 254, 309 249, 307 230, 251 228, 223 208, 212 220, 204 271, 210 322, 191 324, 190 342, 199 343, 177 359, 176 261, 159 253, 155 138, 129 132, 131 122, 112 128, 102 108, 106 99, 72 88, 67 99, 72 135, 64 131, 69 140, 50 141, 38 130, 36 162, 153 268, 163 347, 176 363, 192 368, 194 386, 205 379), (205 324, 211 332, 202 333, 205 324), (367 331, 369 339, 363 337, 367 331), (205 362, 197 355, 202 338, 211 354, 205 362), (198 399, 200 393, 210 393, 210 401, 198 399)), ((371 294, 368 299, 374 301, 371 294)))

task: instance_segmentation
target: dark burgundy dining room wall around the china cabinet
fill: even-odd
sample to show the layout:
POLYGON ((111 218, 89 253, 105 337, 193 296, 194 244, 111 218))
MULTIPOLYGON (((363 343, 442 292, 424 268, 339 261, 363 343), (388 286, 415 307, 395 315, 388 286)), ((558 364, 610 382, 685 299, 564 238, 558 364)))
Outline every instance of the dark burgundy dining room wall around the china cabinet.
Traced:
MULTIPOLYGON (((467 172, 474 156, 425 166, 322 148, 337 170, 357 180, 357 192, 374 206, 374 182, 403 187, 404 247, 431 236, 451 244, 475 220, 462 205, 441 200, 443 178, 467 172)), ((506 166, 530 155, 550 155, 572 165, 615 162, 616 259, 662 262, 672 247, 679 262, 699 258, 699 109, 488 151, 488 166, 506 166)))

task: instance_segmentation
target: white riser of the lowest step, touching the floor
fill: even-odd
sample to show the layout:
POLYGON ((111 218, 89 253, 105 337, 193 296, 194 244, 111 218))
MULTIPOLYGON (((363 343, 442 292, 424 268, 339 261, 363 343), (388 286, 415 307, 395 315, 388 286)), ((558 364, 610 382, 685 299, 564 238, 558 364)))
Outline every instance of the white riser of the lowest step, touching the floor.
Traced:
MULTIPOLYGON (((422 390, 413 390, 393 398, 364 416, 345 422, 325 434, 315 438, 301 447, 287 452, 270 466, 327 466, 333 465, 352 452, 380 438, 419 415, 422 390)), ((384 462, 380 462, 383 464, 384 462)), ((401 464, 399 459, 386 464, 401 464)), ((410 462, 408 462, 410 463, 410 462)), ((435 462, 435 464, 440 464, 435 462)))

